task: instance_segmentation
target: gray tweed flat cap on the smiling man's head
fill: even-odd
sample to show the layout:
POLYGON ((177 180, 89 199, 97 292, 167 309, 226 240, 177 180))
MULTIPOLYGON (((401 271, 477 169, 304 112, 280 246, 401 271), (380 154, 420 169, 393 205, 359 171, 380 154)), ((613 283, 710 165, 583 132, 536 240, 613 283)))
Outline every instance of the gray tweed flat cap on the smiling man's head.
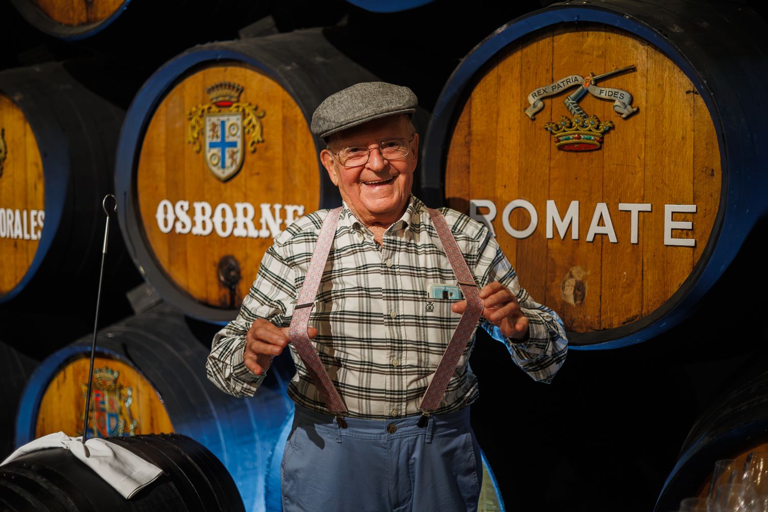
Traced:
POLYGON ((312 133, 328 137, 379 117, 411 114, 417 104, 413 91, 402 85, 361 82, 326 97, 312 114, 312 133))

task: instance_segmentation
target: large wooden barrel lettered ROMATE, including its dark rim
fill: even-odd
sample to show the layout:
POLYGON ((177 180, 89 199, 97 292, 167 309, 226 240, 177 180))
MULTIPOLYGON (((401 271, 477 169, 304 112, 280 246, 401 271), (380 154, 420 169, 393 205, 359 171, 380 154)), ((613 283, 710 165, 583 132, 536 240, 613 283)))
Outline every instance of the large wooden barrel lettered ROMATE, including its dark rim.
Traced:
POLYGON ((574 347, 650 339, 689 314, 766 211, 768 65, 753 37, 765 31, 744 6, 681 0, 566 2, 511 21, 445 84, 423 195, 492 226, 574 347))

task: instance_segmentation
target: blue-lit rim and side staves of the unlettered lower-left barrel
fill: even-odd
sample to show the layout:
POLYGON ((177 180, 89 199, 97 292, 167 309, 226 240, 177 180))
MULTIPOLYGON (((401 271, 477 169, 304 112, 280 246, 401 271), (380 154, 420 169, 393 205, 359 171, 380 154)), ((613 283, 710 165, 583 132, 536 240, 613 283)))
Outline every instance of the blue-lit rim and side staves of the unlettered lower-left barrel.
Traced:
MULTIPOLYGON (((205 360, 209 348, 192 337, 184 316, 161 305, 101 329, 96 351, 143 373, 164 401, 176 432, 204 445, 227 467, 247 510, 253 510, 265 500, 262 491, 269 475, 264 468, 273 437, 285 416, 293 411, 293 402, 286 394, 295 371, 293 361, 287 353, 276 358, 254 398, 235 398, 207 380, 205 360), (274 414, 264 415, 263 410, 274 414)), ((87 357, 90 350, 91 336, 86 336, 50 355, 31 375, 18 409, 17 447, 36 437, 41 398, 58 369, 71 358, 87 357)))

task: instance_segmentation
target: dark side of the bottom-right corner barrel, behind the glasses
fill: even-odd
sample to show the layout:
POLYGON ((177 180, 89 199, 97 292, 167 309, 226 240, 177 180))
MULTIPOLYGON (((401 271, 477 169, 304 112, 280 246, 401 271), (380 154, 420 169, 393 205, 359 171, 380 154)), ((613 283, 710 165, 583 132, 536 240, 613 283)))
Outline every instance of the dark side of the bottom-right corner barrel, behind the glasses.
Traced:
POLYGON ((686 497, 707 497, 715 461, 743 463, 751 451, 768 451, 768 372, 746 375, 750 373, 753 377, 743 378, 690 429, 657 500, 657 512, 675 510, 686 497))

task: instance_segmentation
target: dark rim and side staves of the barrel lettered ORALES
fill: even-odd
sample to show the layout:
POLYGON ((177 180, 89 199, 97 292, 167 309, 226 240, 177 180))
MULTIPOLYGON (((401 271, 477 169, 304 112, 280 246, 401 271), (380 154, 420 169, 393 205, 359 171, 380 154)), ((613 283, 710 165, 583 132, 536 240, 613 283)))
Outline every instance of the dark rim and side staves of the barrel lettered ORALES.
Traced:
MULTIPOLYGON (((66 64, 2 71, 0 92, 12 98, 35 134, 46 190, 45 230, 35 258, 15 289, 0 296, 0 304, 34 304, 36 293, 51 282, 69 287, 84 273, 98 275, 103 225, 94 221, 103 215, 101 201, 113 187, 104 170, 113 165, 124 112, 82 87, 66 64)), ((119 239, 110 244, 118 261, 121 245, 119 239)))

